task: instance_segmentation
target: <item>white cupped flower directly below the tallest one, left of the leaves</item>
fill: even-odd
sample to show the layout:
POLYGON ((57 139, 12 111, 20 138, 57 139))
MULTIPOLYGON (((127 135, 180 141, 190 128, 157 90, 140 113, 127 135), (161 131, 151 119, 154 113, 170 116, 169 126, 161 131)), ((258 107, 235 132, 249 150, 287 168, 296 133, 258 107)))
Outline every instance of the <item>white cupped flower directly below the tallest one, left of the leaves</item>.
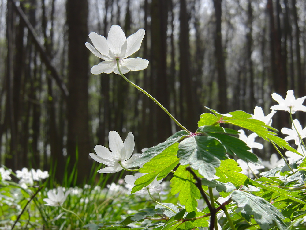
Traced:
POLYGON ((123 143, 118 132, 110 131, 108 142, 111 152, 102 145, 96 145, 95 152, 97 154, 89 154, 95 161, 107 165, 107 167, 98 170, 99 173, 119 172, 123 169, 120 163, 123 167, 129 168, 133 160, 139 157, 138 155, 131 157, 135 147, 134 135, 131 132, 128 133, 123 143))

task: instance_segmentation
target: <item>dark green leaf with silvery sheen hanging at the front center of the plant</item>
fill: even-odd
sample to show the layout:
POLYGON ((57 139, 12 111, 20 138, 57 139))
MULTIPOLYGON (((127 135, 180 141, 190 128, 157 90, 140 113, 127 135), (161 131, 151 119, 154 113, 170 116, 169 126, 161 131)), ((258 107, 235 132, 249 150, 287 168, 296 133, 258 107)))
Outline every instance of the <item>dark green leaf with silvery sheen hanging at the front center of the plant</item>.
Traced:
POLYGON ((215 175, 215 168, 226 159, 226 150, 215 138, 210 136, 195 135, 185 138, 178 145, 177 157, 182 165, 189 164, 199 173, 209 179, 215 175))

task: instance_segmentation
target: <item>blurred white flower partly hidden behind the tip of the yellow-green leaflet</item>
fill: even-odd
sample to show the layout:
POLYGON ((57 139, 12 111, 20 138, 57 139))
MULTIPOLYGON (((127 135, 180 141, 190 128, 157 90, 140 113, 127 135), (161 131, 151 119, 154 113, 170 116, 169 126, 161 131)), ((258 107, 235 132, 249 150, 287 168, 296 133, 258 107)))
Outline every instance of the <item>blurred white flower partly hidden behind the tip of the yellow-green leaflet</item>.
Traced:
MULTIPOLYGON (((132 175, 127 175, 125 176, 124 180, 126 182, 125 187, 128 189, 127 194, 131 194, 132 188, 135 186, 135 181, 144 175, 143 173, 135 173, 134 176, 132 175)), ((150 194, 155 193, 155 192, 160 192, 162 191, 162 185, 160 183, 162 180, 157 180, 156 178, 149 184, 148 186, 145 186, 141 190, 133 193, 133 194, 148 194, 148 189, 150 191, 150 194)))

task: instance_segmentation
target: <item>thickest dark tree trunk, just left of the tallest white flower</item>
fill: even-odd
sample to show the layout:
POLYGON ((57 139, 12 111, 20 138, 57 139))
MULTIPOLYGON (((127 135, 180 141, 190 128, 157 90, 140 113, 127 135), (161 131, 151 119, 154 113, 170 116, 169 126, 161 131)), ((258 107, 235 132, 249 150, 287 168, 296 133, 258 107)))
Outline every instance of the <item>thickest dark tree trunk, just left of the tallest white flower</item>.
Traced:
POLYGON ((68 82, 67 102, 67 154, 71 163, 77 162, 77 183, 88 176, 89 159, 89 116, 88 116, 88 2, 67 0, 68 25, 68 82), (78 159, 76 158, 78 156, 78 159))

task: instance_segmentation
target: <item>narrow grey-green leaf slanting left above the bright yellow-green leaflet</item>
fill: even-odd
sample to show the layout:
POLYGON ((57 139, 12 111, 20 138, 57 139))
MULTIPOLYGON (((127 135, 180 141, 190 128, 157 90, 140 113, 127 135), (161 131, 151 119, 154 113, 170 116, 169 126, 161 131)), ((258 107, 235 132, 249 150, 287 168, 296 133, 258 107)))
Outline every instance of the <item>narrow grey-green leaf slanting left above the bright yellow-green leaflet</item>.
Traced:
POLYGON ((136 167, 141 164, 147 163, 149 160, 151 160, 153 157, 159 155, 162 151, 164 151, 169 146, 173 145, 174 143, 180 141, 184 137, 188 136, 189 133, 185 130, 178 131, 174 133, 172 136, 170 136, 166 141, 153 146, 151 148, 148 148, 139 158, 137 158, 132 164, 129 165, 129 167, 136 167))

